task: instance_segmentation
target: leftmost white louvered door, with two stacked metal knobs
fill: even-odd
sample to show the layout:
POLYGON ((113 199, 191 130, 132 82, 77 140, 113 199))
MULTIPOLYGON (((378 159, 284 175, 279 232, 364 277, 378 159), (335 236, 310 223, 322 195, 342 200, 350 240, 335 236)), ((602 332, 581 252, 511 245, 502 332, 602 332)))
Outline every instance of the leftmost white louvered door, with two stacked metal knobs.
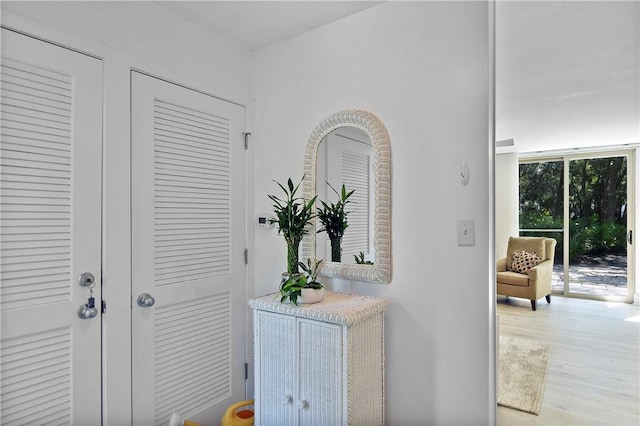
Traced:
POLYGON ((1 77, 0 424, 97 425, 102 63, 2 29, 1 77))

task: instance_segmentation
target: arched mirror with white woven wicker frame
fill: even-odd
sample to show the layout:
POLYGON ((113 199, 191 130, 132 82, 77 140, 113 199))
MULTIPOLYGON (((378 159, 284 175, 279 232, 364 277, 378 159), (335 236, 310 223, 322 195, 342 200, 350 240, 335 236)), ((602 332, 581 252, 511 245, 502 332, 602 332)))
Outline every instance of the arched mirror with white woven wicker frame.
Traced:
POLYGON ((327 117, 309 137, 304 170, 307 199, 318 194, 319 200, 335 202, 333 189, 340 193, 343 184, 354 193, 346 208, 341 261, 330 261, 328 237, 317 233, 318 220, 302 241, 301 258, 325 259, 320 273, 327 277, 391 282, 391 155, 382 122, 359 110, 327 117), (356 263, 356 257, 365 263, 356 263))

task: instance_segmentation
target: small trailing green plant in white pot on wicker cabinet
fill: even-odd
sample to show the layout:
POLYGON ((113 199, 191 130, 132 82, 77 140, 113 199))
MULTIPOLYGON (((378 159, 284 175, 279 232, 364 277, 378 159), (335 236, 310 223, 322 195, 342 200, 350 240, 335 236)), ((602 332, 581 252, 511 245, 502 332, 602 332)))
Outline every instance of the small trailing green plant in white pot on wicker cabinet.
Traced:
POLYGON ((290 274, 280 284, 280 302, 288 300, 294 305, 300 303, 317 303, 324 298, 324 286, 317 281, 322 260, 307 259, 307 263, 299 262, 303 273, 290 274))

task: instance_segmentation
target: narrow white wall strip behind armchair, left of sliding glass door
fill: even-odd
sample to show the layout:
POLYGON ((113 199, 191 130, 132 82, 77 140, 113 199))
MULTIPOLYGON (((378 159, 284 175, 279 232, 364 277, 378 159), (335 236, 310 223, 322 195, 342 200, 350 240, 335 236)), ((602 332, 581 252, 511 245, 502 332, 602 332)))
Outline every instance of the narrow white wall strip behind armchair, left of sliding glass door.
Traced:
POLYGON ((519 233, 518 154, 497 154, 495 176, 496 259, 500 259, 507 254, 509 237, 517 237, 519 233))

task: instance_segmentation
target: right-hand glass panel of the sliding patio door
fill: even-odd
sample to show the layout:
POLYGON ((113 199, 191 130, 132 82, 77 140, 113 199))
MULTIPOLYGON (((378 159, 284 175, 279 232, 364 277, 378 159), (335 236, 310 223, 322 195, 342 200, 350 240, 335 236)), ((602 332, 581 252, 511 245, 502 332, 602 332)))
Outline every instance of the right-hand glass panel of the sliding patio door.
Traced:
POLYGON ((568 294, 628 299, 628 160, 626 155, 567 159, 568 294))

